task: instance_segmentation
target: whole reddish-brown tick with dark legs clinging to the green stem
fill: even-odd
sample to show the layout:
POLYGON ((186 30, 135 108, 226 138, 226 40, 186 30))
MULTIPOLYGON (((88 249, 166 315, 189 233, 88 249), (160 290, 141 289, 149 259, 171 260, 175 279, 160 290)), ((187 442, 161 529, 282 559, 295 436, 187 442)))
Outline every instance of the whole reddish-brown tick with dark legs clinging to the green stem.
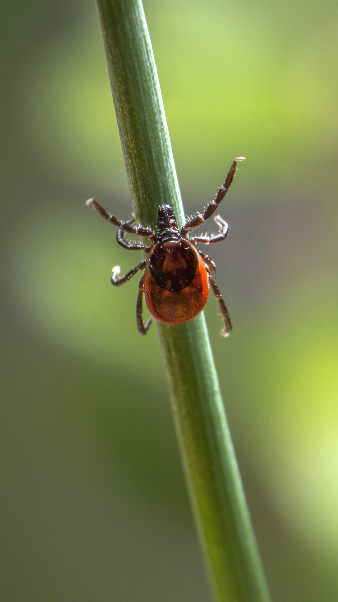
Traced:
POLYGON ((133 219, 123 222, 107 213, 95 199, 87 200, 87 205, 94 205, 96 211, 105 220, 117 226, 116 239, 121 247, 130 251, 143 250, 147 255, 146 259, 122 278, 118 278, 120 272, 118 265, 113 268, 111 276, 111 284, 114 287, 120 287, 135 276, 137 272, 144 270, 144 275, 138 287, 136 305, 137 328, 141 335, 147 333, 153 318, 167 324, 182 324, 194 318, 202 311, 207 302, 209 285, 220 304, 221 314, 224 318, 225 326, 221 334, 223 337, 230 334, 232 323, 226 304, 211 276, 216 272, 214 261, 195 247, 196 243, 211 244, 224 240, 229 234, 229 226, 221 216, 215 216, 214 220, 219 228, 218 234, 195 236, 189 239, 187 236, 189 228, 200 226, 215 213, 232 184, 237 161, 243 160, 244 157, 238 157, 233 161, 226 181, 218 190, 215 199, 206 206, 203 214, 197 213, 197 216, 188 220, 180 230, 170 205, 159 206, 157 233, 155 233, 151 228, 132 226, 135 222, 134 215, 133 219), (123 238, 125 232, 140 237, 148 237, 150 246, 129 243, 123 238), (147 308, 153 316, 146 324, 144 324, 142 317, 143 294, 147 308))

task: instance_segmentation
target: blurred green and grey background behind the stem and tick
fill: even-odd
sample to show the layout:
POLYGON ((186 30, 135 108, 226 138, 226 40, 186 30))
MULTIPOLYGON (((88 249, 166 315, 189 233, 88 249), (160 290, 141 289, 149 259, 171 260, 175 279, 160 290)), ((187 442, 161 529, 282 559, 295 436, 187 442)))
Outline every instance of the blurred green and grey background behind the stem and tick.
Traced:
MULTIPOLYGON (((338 3, 144 3, 186 213, 244 155, 207 323, 274 602, 338 599, 338 3)), ((2 600, 206 602, 96 7, 0 3, 2 600)), ((212 228, 212 225, 209 228, 212 228)))

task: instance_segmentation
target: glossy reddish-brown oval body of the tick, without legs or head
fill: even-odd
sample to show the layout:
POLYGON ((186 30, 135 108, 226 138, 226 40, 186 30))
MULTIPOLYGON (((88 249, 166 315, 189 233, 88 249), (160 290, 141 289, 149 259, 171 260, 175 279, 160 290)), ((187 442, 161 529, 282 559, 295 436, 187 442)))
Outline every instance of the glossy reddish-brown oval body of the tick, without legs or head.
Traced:
POLYGON ((143 287, 150 313, 156 320, 168 324, 181 324, 194 318, 209 296, 204 261, 195 247, 183 239, 154 247, 144 271, 143 287), (177 290, 180 287, 181 290, 177 290))

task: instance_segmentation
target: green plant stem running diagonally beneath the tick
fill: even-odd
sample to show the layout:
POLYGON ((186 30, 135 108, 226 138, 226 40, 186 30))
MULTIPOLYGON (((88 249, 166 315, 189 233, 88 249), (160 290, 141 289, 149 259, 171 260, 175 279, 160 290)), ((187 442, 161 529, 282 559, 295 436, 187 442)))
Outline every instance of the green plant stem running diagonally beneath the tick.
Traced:
MULTIPOLYGON (((184 211, 152 45, 140 0, 97 0, 135 213, 156 226, 184 211)), ((268 602, 203 314, 158 323, 189 495, 218 602, 268 602)), ((226 341, 224 341, 226 344, 226 341)))

